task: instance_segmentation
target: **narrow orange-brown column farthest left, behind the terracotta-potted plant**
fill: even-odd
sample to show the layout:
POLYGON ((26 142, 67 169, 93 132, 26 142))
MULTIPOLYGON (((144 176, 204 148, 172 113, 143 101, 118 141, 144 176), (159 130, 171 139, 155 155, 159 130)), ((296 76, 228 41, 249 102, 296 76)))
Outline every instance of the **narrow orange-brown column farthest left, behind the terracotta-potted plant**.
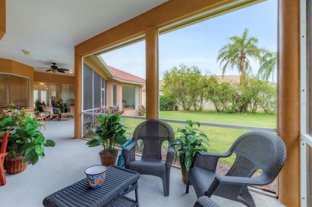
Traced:
POLYGON ((81 128, 81 102, 82 102, 82 58, 75 55, 75 128, 74 138, 82 138, 81 128))

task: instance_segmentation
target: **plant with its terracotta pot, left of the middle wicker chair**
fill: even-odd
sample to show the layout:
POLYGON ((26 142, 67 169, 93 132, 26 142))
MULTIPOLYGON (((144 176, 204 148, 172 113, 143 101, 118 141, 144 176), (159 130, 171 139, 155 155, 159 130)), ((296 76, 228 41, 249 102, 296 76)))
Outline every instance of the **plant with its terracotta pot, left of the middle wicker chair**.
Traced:
POLYGON ((115 149, 116 144, 122 145, 128 141, 124 136, 126 127, 119 121, 118 113, 111 115, 109 112, 106 117, 101 114, 98 115, 98 121, 95 122, 95 133, 92 135, 95 138, 86 143, 89 147, 98 145, 103 147, 103 150, 99 153, 102 165, 114 165, 118 156, 118 150, 115 149))

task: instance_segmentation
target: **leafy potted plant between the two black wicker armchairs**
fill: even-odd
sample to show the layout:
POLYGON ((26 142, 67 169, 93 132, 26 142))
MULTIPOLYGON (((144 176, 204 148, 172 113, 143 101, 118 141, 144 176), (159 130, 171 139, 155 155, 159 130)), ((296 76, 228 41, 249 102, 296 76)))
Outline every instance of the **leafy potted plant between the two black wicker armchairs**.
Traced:
MULTIPOLYGON (((178 137, 171 143, 176 147, 176 158, 179 158, 182 170, 182 179, 186 183, 188 172, 191 169, 195 152, 207 152, 205 145, 209 146, 209 139, 203 131, 193 128, 193 121, 187 120, 187 126, 177 129, 178 137)), ((198 127, 200 123, 196 121, 198 127)))

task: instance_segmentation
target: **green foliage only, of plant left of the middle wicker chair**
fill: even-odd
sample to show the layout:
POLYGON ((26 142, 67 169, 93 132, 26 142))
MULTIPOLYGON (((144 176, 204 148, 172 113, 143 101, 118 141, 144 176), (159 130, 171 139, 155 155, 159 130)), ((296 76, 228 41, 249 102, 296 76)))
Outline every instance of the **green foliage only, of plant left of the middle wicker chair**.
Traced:
POLYGON ((89 147, 102 145, 104 151, 113 151, 116 144, 122 145, 127 142, 124 135, 126 127, 119 122, 119 114, 111 115, 108 113, 106 117, 100 114, 98 121, 100 125, 96 125, 95 133, 92 135, 96 138, 86 143, 89 147))

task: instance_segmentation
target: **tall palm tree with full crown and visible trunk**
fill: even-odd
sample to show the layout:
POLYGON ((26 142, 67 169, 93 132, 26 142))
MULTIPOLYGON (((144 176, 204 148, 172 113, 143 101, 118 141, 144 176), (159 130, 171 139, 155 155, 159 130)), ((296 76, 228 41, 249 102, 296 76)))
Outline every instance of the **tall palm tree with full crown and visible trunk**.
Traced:
POLYGON ((237 69, 240 73, 239 85, 245 78, 245 73, 252 70, 250 65, 250 58, 254 60, 260 59, 260 53, 264 50, 258 48, 258 38, 248 36, 248 29, 246 28, 242 36, 232 36, 228 40, 230 43, 224 45, 218 52, 217 62, 220 61, 222 75, 227 69, 237 69))

